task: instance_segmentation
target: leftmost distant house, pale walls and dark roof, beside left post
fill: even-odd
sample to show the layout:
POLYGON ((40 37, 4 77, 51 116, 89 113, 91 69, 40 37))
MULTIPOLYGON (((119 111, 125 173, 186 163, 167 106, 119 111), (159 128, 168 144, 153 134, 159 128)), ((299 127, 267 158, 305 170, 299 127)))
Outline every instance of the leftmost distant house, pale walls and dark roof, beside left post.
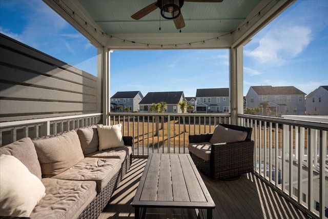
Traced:
POLYGON ((124 111, 126 107, 130 108, 130 112, 139 111, 139 103, 144 96, 140 91, 120 91, 111 97, 111 111, 117 111, 117 106, 121 106, 120 111, 124 111))

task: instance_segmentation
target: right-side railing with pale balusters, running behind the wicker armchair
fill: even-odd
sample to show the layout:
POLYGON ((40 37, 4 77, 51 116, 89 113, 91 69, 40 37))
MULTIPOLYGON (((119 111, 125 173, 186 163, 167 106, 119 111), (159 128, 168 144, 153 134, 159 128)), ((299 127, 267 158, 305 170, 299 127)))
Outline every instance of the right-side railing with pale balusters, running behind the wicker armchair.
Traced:
POLYGON ((311 215, 328 216, 328 123, 238 117, 253 128, 255 173, 311 215))

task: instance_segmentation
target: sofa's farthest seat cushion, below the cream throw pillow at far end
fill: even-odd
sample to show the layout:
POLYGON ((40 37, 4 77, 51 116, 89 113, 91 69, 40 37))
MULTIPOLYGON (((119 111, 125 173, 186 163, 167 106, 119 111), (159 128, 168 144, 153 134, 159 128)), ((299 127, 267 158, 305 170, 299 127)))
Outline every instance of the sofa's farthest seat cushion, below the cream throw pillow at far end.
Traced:
POLYGON ((111 148, 104 151, 96 151, 90 154, 85 154, 86 157, 111 157, 111 158, 119 158, 121 163, 132 154, 131 146, 124 146, 118 148, 111 148))

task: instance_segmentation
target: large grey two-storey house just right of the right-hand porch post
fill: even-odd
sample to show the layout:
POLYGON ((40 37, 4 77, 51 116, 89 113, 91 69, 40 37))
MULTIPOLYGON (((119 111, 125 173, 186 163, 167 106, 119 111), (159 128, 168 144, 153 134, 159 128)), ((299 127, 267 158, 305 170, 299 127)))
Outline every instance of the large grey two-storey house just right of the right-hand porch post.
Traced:
POLYGON ((252 86, 247 92, 246 102, 248 108, 262 107, 262 115, 305 113, 305 93, 294 86, 252 86))

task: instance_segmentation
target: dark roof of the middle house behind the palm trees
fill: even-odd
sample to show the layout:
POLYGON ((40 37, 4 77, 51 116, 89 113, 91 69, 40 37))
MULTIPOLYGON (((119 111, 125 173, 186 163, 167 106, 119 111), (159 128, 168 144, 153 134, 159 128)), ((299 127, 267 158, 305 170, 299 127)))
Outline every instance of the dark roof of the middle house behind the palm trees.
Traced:
POLYGON ((166 102, 167 104, 177 104, 180 99, 185 97, 183 91, 173 91, 173 92, 149 92, 140 101, 139 104, 153 104, 159 102, 166 102))

